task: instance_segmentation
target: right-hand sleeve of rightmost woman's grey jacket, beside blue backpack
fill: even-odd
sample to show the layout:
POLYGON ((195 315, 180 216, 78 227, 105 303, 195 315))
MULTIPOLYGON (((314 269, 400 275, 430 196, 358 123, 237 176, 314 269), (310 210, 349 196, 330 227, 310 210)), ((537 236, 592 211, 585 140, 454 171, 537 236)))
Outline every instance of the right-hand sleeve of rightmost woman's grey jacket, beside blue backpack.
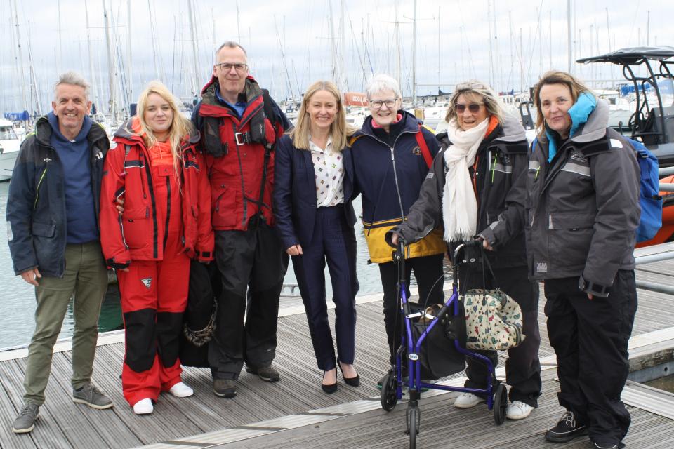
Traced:
POLYGON ((625 142, 623 148, 591 157, 590 173, 597 215, 581 288, 607 296, 626 260, 632 260, 633 266, 635 229, 640 217, 640 171, 634 150, 625 142))

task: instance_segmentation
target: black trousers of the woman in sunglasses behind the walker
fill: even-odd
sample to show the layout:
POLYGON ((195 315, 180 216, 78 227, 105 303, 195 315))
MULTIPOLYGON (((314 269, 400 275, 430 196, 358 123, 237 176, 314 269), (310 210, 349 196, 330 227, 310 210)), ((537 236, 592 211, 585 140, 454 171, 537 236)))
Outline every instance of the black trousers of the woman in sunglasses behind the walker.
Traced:
MULTIPOLYGON (((538 330, 538 283, 529 281, 527 267, 495 268, 494 277, 489 272, 482 276, 481 270, 458 269, 458 283, 461 292, 471 288, 500 287, 512 297, 522 309, 522 333, 524 342, 518 347, 508 349, 505 362, 505 382, 510 385, 510 401, 520 401, 532 407, 538 407, 541 396, 541 363, 538 360, 538 347, 541 346, 541 333, 538 330)), ((498 363, 497 351, 473 351, 489 357, 494 368, 498 363)), ((487 387, 489 371, 482 361, 466 357, 465 375, 468 380, 465 387, 484 389, 487 387)))

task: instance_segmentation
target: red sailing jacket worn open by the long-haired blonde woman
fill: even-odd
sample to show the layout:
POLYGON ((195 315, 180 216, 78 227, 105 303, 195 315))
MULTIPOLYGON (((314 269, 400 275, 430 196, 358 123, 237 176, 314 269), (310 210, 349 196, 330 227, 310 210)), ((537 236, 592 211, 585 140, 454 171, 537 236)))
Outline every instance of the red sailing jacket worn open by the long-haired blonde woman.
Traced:
MULTIPOLYGON (((166 223, 171 210, 157 204, 150 155, 143 138, 133 135, 131 121, 124 123, 114 135, 117 147, 107 154, 100 194, 100 240, 106 263, 125 264, 131 260, 163 260, 166 223), (128 147, 127 147, 128 146, 128 147), (117 213, 117 198, 124 199, 124 213, 117 213)), ((180 166, 182 199, 183 247, 188 256, 213 260, 211 227, 211 191, 204 170, 204 156, 195 145, 199 133, 183 141, 183 163, 180 166)), ((158 182, 158 181, 157 181, 158 182)))

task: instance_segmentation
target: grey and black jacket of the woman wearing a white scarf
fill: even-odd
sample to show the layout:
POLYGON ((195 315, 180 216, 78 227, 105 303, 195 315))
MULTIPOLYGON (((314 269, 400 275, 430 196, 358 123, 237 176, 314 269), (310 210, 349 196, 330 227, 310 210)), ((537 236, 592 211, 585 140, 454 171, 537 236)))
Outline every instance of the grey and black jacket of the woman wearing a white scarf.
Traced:
MULTIPOLYGON (((407 222, 392 232, 413 242, 442 227, 442 194, 446 164, 444 152, 449 147, 447 133, 440 133, 441 151, 435 157, 419 199, 411 206, 407 222)), ((476 167, 469 168, 477 193, 477 231, 489 241, 494 251, 489 260, 494 268, 517 267, 527 264, 524 253, 524 201, 526 198, 527 138, 524 128, 512 116, 505 115, 503 123, 480 143, 476 167)), ((387 236, 390 242, 390 235, 387 236)))

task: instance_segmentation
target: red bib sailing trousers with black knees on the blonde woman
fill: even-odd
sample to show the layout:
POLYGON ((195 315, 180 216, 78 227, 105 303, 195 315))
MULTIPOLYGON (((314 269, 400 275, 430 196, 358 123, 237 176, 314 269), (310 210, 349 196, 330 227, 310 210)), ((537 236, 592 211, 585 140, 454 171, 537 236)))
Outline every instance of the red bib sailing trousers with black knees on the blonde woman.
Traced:
POLYGON ((183 372, 178 337, 187 307, 190 259, 182 253, 180 185, 173 165, 153 163, 152 194, 157 226, 166 229, 164 241, 154 242, 164 246, 164 260, 133 260, 128 272, 117 272, 126 330, 121 384, 131 406, 145 398, 157 401, 161 391, 180 382, 183 372))

